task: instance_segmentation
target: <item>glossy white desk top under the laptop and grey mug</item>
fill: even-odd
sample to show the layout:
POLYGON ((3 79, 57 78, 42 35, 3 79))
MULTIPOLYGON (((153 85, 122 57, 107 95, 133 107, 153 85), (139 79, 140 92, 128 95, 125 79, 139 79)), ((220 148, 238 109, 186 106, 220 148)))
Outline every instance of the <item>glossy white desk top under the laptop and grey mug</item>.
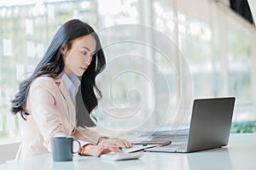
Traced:
POLYGON ((73 161, 66 162, 53 162, 51 155, 47 154, 24 161, 9 161, 0 165, 0 169, 255 170, 256 133, 231 134, 230 143, 227 148, 189 154, 145 152, 144 156, 140 159, 131 161, 102 161, 101 158, 97 157, 74 156, 73 161))

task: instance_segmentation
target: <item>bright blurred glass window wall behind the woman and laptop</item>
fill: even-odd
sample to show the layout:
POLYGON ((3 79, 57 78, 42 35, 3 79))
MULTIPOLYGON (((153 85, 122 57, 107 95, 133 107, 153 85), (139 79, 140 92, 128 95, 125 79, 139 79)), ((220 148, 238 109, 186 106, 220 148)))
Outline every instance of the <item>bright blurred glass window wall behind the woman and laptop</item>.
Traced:
POLYGON ((183 125, 192 98, 232 95, 232 132, 256 131, 255 27, 222 3, 19 1, 0 3, 0 15, 0 143, 19 139, 22 120, 10 114, 10 100, 56 29, 72 18, 99 32, 107 56, 96 80, 103 93, 93 113, 99 126, 121 131, 178 119, 183 125))

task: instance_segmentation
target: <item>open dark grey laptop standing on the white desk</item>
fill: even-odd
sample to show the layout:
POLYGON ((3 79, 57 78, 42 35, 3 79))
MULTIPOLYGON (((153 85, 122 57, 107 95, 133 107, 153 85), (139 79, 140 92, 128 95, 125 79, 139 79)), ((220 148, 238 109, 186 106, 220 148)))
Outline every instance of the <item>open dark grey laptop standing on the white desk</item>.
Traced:
POLYGON ((179 136, 177 132, 172 135, 172 144, 146 151, 189 153, 227 145, 235 100, 235 97, 195 99, 188 134, 179 136))

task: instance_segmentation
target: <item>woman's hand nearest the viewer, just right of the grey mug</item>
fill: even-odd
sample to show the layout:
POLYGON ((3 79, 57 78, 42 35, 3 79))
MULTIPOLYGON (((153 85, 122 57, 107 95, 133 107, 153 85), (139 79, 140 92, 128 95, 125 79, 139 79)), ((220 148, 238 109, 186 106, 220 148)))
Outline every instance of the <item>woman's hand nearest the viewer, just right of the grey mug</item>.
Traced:
POLYGON ((120 150, 118 147, 110 147, 110 146, 104 146, 104 145, 94 145, 94 144, 86 144, 83 150, 83 153, 81 153, 82 156, 96 156, 99 157, 102 154, 108 154, 109 152, 114 153, 123 153, 122 150, 120 150))

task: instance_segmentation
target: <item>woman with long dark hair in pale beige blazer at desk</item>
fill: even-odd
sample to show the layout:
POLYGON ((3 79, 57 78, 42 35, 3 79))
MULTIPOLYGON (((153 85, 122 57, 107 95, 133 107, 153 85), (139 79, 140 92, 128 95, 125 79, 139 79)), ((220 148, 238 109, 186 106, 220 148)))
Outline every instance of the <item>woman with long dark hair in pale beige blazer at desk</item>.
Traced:
POLYGON ((69 20, 56 32, 32 76, 20 82, 12 100, 11 112, 20 113, 23 141, 20 158, 50 151, 50 138, 70 136, 79 139, 81 156, 101 156, 131 147, 125 139, 109 139, 76 126, 75 96, 81 83, 84 105, 89 113, 96 108, 96 76, 106 65, 96 32, 80 20, 69 20), (79 80, 81 79, 81 82, 79 80))

